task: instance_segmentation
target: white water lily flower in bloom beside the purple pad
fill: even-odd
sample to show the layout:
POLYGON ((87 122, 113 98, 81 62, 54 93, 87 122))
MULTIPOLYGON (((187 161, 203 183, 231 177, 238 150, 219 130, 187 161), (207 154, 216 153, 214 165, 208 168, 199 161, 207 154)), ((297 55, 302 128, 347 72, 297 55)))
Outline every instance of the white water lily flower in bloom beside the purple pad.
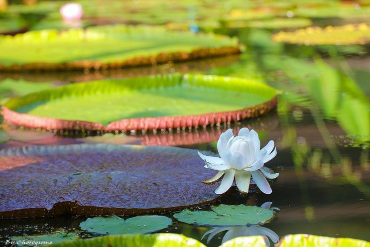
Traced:
POLYGON ((218 171, 213 178, 203 182, 214 183, 223 177, 220 187, 215 191, 216 194, 222 194, 230 189, 235 177, 239 190, 247 193, 252 178, 263 193, 270 194, 272 190, 266 178, 274 179, 279 173, 272 173, 263 165, 275 157, 277 152, 273 140, 262 149, 259 148, 258 134, 253 129, 249 131, 246 127, 241 128, 238 136, 233 135, 231 128, 223 132, 217 142, 220 157, 198 152, 206 162, 205 168, 218 171))

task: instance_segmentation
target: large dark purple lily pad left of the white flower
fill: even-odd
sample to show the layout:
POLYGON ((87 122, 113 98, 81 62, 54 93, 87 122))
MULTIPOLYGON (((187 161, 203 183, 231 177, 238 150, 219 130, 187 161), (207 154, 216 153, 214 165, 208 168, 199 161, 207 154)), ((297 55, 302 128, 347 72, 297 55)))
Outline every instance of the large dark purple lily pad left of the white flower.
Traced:
POLYGON ((114 144, 0 151, 0 218, 132 215, 216 200, 197 151, 114 144))

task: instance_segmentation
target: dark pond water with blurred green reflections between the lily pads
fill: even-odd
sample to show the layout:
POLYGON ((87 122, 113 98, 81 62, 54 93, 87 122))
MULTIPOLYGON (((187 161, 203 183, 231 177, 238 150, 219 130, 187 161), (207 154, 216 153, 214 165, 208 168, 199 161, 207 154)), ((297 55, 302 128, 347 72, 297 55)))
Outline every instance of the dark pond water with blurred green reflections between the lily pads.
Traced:
MULTIPOLYGON (((330 21, 325 20, 325 24, 330 21)), ((276 111, 230 126, 255 128, 262 146, 268 140, 274 140, 278 154, 266 166, 280 175, 271 185, 272 194, 241 195, 234 188, 217 204, 260 206, 272 202, 272 206, 280 211, 275 219, 263 227, 272 230, 280 238, 286 234, 306 233, 370 241, 370 126, 369 119, 363 115, 363 109, 365 113, 369 109, 370 47, 276 44, 269 40, 270 31, 261 29, 220 29, 218 32, 238 36, 246 46, 246 52, 237 61, 221 66, 215 63, 215 66, 202 68, 192 62, 187 71, 201 70, 204 73, 264 79, 280 90, 276 111), (351 85, 348 86, 345 81, 350 81, 351 85), (346 85, 360 92, 356 98, 346 96, 346 85)), ((203 62, 199 63, 204 65, 203 62)), ((140 74, 139 69, 134 71, 137 73, 135 75, 140 74)), ((147 72, 148 68, 143 71, 147 72)), ((181 72, 181 69, 173 67, 174 71, 181 72)), ((127 74, 123 72, 119 75, 124 77, 127 74)), ((32 80, 32 75, 27 76, 28 80, 32 80)), ((34 81, 38 81, 37 76, 34 81)), ((42 76, 45 78, 45 74, 42 76)), ((98 76, 104 77, 102 74, 98 76)), ((53 74, 50 78, 59 83, 69 81, 61 79, 62 75, 55 79, 53 74)), ((76 78, 76 74, 73 78, 76 78)), ((228 127, 221 125, 205 130, 149 133, 145 136, 141 133, 128 134, 122 142, 147 141, 158 144, 158 140, 163 142, 168 135, 181 139, 182 142, 177 142, 177 145, 182 147, 217 152, 215 141, 220 131, 228 127), (202 143, 194 144, 198 140, 202 140, 202 143)), ((50 144, 84 141, 79 134, 12 131, 21 131, 14 135, 21 135, 22 138, 2 143, 1 148, 40 144, 45 135, 45 143, 50 144)), ((172 217, 173 214, 164 215, 172 217)), ((23 234, 44 234, 59 228, 78 229, 85 220, 84 217, 71 216, 0 220, 0 236, 4 240, 23 234)), ((173 218, 173 225, 159 232, 180 233, 200 240, 208 230, 210 228, 179 223, 173 218)), ((208 246, 219 246, 224 234, 216 235, 208 246)), ((91 236, 86 234, 86 237, 91 236)), ((206 243, 206 239, 202 242, 206 243)))

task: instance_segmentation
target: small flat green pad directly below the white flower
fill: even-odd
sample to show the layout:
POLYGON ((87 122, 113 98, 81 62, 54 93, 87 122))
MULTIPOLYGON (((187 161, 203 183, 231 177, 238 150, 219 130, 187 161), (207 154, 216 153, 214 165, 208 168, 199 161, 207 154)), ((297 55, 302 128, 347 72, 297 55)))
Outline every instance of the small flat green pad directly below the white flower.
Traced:
POLYGON ((201 226, 245 226, 268 222, 273 216, 269 209, 243 204, 212 206, 212 211, 185 209, 173 215, 178 221, 201 226))

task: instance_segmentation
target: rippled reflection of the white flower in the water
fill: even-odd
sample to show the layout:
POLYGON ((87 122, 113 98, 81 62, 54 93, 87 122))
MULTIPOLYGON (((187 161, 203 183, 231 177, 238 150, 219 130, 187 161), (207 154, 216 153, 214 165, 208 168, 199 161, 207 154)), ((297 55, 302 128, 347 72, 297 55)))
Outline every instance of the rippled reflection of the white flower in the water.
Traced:
POLYGON ((207 231, 203 236, 202 239, 207 236, 207 243, 211 241, 216 234, 227 231, 224 238, 222 238, 222 244, 226 241, 238 238, 238 237, 248 237, 248 236, 263 236, 266 238, 266 245, 270 246, 270 242, 267 240, 267 237, 271 239, 273 243, 279 242, 279 236, 272 230, 261 227, 259 225, 251 225, 251 226, 241 226, 241 227, 215 227, 211 230, 207 231))

